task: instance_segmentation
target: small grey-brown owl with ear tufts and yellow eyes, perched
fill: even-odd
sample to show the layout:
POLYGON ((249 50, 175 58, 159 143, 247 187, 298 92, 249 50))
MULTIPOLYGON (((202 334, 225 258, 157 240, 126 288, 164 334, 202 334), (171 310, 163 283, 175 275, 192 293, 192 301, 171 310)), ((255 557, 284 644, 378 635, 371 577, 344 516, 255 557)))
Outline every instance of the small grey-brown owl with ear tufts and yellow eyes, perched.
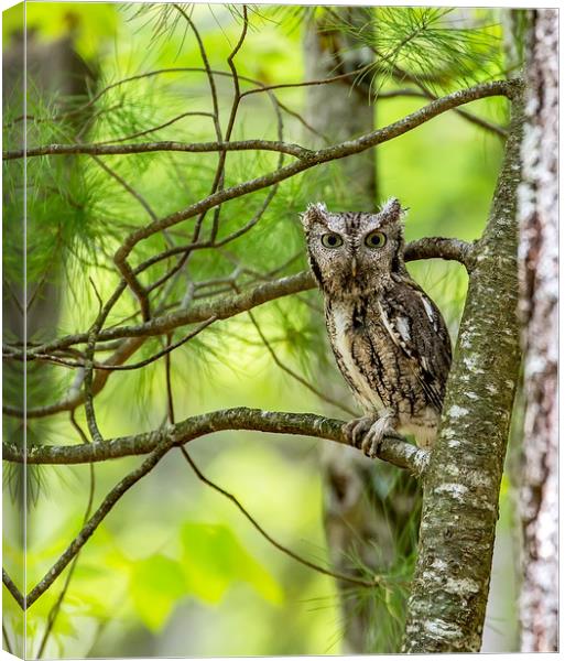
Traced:
POLYGON ((368 456, 387 434, 432 446, 452 362, 444 318, 404 266, 402 216, 394 198, 377 214, 302 214, 329 342, 366 413, 346 434, 368 456))

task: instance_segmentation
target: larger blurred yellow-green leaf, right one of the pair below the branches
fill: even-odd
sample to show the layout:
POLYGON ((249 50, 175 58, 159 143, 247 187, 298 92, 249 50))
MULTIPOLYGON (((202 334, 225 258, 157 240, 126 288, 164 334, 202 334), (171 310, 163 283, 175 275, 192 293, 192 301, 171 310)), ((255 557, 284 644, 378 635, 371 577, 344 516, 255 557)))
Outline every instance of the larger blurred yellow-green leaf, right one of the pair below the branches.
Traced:
POLYGON ((241 545, 231 530, 210 523, 186 523, 181 531, 183 567, 191 589, 200 599, 218 603, 235 582, 249 583, 264 599, 279 604, 282 589, 241 545))

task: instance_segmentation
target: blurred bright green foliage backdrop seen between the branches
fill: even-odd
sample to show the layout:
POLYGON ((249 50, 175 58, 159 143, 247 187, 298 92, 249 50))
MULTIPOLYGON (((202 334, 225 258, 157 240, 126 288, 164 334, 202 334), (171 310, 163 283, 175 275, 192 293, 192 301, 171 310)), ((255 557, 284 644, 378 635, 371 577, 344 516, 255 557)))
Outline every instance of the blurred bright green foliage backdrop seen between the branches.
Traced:
MULTIPOLYGON (((94 112, 82 118, 80 124, 36 121, 56 117, 62 104, 84 104, 85 95, 93 98, 97 90, 140 73, 202 67, 198 44, 182 23, 174 25, 171 17, 167 21, 157 10, 139 8, 129 3, 28 3, 28 43, 30 52, 39 53, 42 62, 37 71, 30 68, 30 144, 68 142, 77 131, 83 131, 82 139, 89 142, 116 140, 165 123, 182 112, 209 109, 205 76, 176 72, 117 86, 94 104, 94 112), (88 68, 88 89, 80 93, 66 89, 63 82, 58 88, 55 82, 48 90, 42 85, 42 77, 51 74, 48 58, 41 54, 64 42, 88 68)), ((237 56, 240 75, 267 85, 303 80, 302 14, 280 11, 262 17, 260 9, 253 13, 252 29, 237 56)), ((487 10, 466 11, 469 20, 487 20, 495 37, 500 36, 497 11, 488 10, 488 17, 487 10)), ((226 6, 195 6, 192 17, 210 66, 228 71, 226 59, 241 30, 240 13, 226 6)), ((19 47, 19 23, 15 12, 4 13, 4 62, 19 47)), ((225 122, 232 86, 229 78, 218 76, 216 80, 225 122)), ((242 86, 249 84, 242 82, 242 86)), ((330 87, 327 94, 332 94, 330 87)), ((303 88, 279 90, 278 96, 286 107, 303 111, 303 88)), ((379 101, 378 126, 403 117, 423 102, 406 97, 379 101)), ((504 105, 497 99, 480 101, 472 110, 492 121, 504 120, 504 105)), ((4 105, 4 144, 15 140, 11 122, 20 112, 4 105)), ((247 97, 238 112, 233 138, 273 139, 275 130, 269 98, 247 97)), ((308 144, 307 130, 293 115, 284 116, 284 131, 289 142, 308 144)), ((210 140, 214 133, 209 117, 189 116, 152 136, 155 140, 189 142, 210 140)), ((216 158, 170 153, 112 156, 105 158, 105 162, 142 192, 162 217, 206 195, 216 158)), ((454 113, 444 113, 380 145, 377 158, 379 199, 393 195, 410 207, 408 240, 434 235, 466 240, 480 236, 501 158, 497 137, 454 113)), ((41 281, 42 274, 48 275, 53 291, 44 295, 45 307, 56 307, 50 317, 52 327, 42 324, 40 316, 37 338, 83 330, 91 324, 97 301, 89 279, 102 297, 108 296, 117 283, 111 266, 113 251, 128 229, 148 221, 143 209, 96 162, 72 159, 44 158, 29 163, 28 216, 33 230, 29 278, 41 281)), ((270 171, 275 163, 272 154, 230 154, 227 184, 270 171)), ((8 178, 4 174, 7 181, 12 181, 10 174, 8 178)), ((22 205, 21 188, 14 184, 8 192, 7 214, 10 206, 18 209, 22 205)), ((239 227, 263 196, 258 193, 226 205, 221 231, 228 234, 239 227)), ((347 182, 339 181, 338 175, 336 178, 333 165, 283 183, 253 232, 225 252, 196 254, 193 268, 198 278, 227 278, 237 263, 256 271, 279 269, 280 275, 305 268, 297 214, 306 203, 318 199, 330 208, 346 209, 355 204, 347 182)), ((4 220, 4 231, 6 226, 4 220)), ((162 238, 146 241, 135 259, 141 261, 162 248, 162 238)), ((17 271, 18 264, 10 268, 17 271)), ((455 340, 467 284, 461 267, 422 262, 411 263, 409 269, 438 303, 455 340)), ((249 275, 247 282, 252 281, 249 275)), ((221 288, 221 282, 203 286, 202 296, 216 295, 215 286, 221 288)), ((221 289, 218 291, 221 294, 221 289)), ((124 296, 108 325, 121 322, 134 310, 134 301, 124 296)), ((284 365, 355 408, 329 356, 317 292, 270 303, 258 308, 256 316, 284 365)), ((139 358, 160 346, 157 340, 148 343, 139 358)), ((105 437, 149 431, 163 423, 163 369, 162 361, 157 361, 109 379, 96 398, 105 437)), ((74 376, 55 368, 42 375, 41 387, 30 393, 30 408, 63 397, 74 376)), ((173 388, 177 420, 238 405, 344 416, 343 411, 322 401, 275 364, 247 315, 214 325, 177 349, 173 354, 173 388)), ((77 411, 76 419, 86 429, 83 410, 77 411)), ((8 435, 19 432, 21 427, 14 430, 10 422, 4 425, 8 435)), ((31 421, 28 433, 31 442, 79 442, 68 413, 31 421)), ((189 451, 207 477, 237 495, 278 541, 325 564, 319 443, 306 437, 221 432, 192 442, 189 451)), ((138 464, 138 458, 123 458, 97 465, 95 503, 138 464)), ((21 476, 14 473, 4 470, 3 554, 9 572, 19 575, 22 549, 14 531, 23 510, 14 487, 21 476)), ((88 466, 31 472, 28 587, 44 575, 79 530, 89 484, 88 466)), ((515 649, 512 534, 512 500, 504 479, 486 651, 515 649)), ((64 576, 30 609, 26 639, 32 657, 63 582, 64 576)), ((44 655, 337 654, 343 636, 337 599, 332 578, 274 549, 231 502, 199 483, 181 456, 171 453, 122 498, 83 550, 44 655)), ((4 626, 14 637, 17 606, 6 590, 3 604, 4 626)))

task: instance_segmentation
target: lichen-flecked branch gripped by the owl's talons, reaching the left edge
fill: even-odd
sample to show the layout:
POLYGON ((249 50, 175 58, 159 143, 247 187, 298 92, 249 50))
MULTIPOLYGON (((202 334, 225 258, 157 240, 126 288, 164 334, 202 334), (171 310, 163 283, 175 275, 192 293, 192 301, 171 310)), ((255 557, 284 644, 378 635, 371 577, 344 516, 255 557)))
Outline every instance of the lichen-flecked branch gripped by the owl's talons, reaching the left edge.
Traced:
MULTIPOLYGON (((315 415, 314 413, 283 413, 260 409, 225 409, 194 415, 166 430, 154 430, 143 434, 122 436, 99 443, 80 445, 41 445, 21 448, 4 443, 4 460, 28 464, 86 464, 106 462, 119 457, 143 455, 154 452, 162 443, 184 445, 207 434, 225 430, 248 430, 271 434, 293 434, 326 438, 349 445, 343 433, 346 423, 315 415)), ((421 476, 427 465, 427 452, 398 437, 387 437, 381 445, 379 458, 421 476)))

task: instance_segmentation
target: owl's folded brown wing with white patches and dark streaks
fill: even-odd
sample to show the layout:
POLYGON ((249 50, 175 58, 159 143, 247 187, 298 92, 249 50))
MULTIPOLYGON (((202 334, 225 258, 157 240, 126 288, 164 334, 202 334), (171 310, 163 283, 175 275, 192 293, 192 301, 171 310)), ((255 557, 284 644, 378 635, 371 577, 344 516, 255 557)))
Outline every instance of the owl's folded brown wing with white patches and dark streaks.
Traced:
POLYGON ((381 322, 394 344, 411 359, 430 402, 442 410, 452 365, 452 343, 442 313, 420 286, 396 283, 394 295, 378 301, 381 322))

